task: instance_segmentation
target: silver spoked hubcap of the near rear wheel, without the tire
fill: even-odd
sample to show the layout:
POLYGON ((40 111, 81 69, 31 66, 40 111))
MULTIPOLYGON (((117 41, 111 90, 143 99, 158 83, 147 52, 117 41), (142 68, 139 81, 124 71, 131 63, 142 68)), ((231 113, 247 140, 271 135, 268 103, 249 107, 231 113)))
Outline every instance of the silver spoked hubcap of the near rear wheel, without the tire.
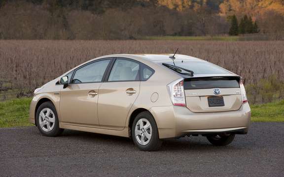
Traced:
POLYGON ((135 138, 140 145, 147 145, 152 137, 152 126, 150 122, 141 118, 135 126, 135 138))

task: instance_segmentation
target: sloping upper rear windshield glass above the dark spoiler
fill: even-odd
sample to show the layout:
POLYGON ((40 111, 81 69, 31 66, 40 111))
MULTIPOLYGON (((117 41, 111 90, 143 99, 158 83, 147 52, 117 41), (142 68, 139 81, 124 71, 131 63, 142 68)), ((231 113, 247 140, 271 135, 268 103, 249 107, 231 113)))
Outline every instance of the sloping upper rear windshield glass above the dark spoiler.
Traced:
MULTIPOLYGON (((164 62, 172 64, 173 62, 164 62)), ((231 74, 225 69, 206 61, 176 61, 176 66, 191 70, 196 74, 231 74)))

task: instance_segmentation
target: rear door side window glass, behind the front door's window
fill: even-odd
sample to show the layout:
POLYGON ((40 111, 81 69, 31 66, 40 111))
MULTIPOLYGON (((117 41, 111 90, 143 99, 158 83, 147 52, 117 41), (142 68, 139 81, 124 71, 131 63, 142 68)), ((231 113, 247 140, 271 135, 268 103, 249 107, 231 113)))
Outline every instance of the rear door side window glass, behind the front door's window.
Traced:
POLYGON ((108 81, 139 81, 139 63, 128 59, 116 59, 108 81))

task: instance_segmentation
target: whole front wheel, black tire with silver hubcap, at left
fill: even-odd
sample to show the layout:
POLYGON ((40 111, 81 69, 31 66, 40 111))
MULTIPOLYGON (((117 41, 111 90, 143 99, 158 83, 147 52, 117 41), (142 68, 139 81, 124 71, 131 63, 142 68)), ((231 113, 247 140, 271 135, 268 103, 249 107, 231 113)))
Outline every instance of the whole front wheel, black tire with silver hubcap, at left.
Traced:
POLYGON ((44 136, 55 137, 63 132, 64 129, 59 128, 59 119, 52 102, 44 102, 38 107, 36 111, 36 126, 44 136))

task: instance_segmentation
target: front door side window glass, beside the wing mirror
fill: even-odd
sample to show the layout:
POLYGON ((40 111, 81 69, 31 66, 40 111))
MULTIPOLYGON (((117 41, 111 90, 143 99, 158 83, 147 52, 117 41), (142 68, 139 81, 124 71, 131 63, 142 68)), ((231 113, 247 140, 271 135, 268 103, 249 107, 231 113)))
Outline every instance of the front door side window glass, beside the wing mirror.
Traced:
POLYGON ((110 59, 96 61, 76 70, 71 83, 102 82, 110 59))

